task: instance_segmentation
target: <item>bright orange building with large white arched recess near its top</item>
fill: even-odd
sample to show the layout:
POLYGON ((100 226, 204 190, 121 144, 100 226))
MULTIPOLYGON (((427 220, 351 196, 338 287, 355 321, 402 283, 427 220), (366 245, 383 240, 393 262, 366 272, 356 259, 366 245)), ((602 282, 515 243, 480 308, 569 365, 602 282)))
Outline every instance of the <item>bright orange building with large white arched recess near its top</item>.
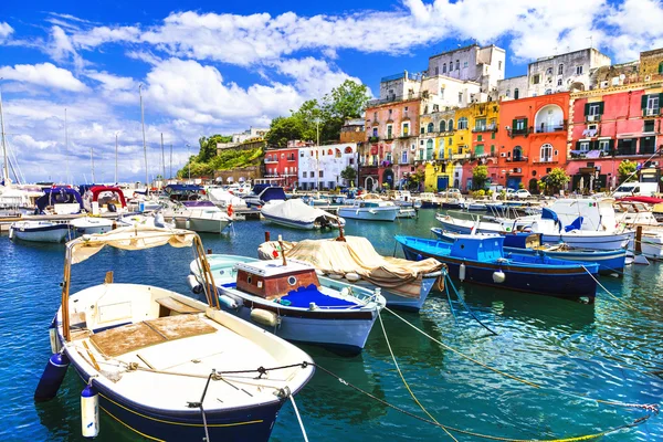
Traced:
POLYGON ((566 168, 569 93, 504 101, 497 133, 497 182, 538 192, 538 180, 566 168))

